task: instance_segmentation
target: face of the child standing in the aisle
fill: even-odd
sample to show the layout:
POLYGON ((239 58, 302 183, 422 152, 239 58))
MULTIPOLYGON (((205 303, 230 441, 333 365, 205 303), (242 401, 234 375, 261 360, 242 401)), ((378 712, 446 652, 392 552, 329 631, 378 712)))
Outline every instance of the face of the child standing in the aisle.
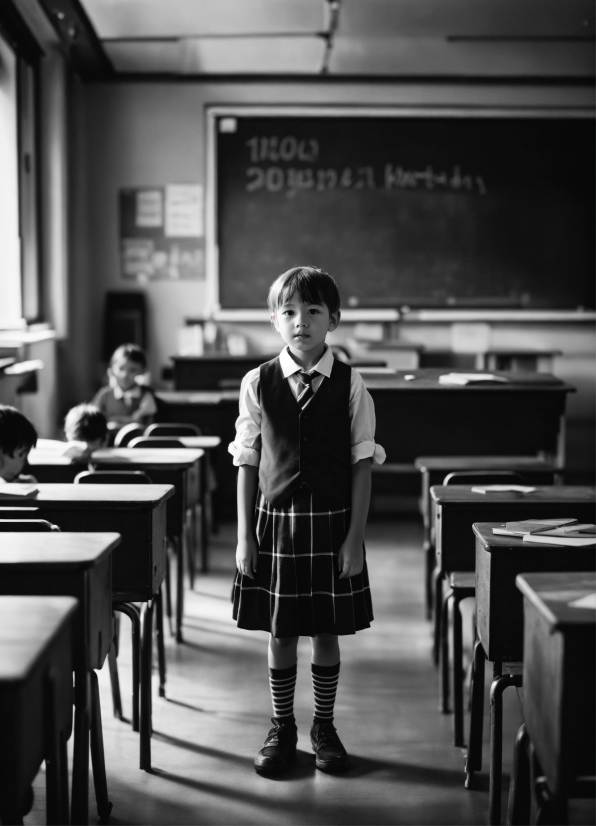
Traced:
POLYGON ((304 303, 299 295, 293 295, 271 314, 271 321, 290 350, 320 357, 327 333, 339 324, 339 313, 331 315, 326 304, 304 303))

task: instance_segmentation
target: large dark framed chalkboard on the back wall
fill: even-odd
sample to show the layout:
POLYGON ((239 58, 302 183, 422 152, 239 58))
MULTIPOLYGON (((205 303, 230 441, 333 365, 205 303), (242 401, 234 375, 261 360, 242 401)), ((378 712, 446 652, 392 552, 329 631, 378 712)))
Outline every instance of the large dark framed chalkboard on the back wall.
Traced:
POLYGON ((351 307, 594 307, 594 121, 216 120, 219 303, 315 264, 351 307))

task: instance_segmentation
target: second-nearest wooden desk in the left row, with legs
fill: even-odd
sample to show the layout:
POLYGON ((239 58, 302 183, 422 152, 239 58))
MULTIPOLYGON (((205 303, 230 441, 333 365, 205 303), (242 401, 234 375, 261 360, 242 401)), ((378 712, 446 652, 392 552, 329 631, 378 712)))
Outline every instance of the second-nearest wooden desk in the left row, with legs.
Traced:
POLYGON ((72 822, 89 814, 89 727, 99 817, 112 808, 103 757, 99 688, 112 644, 112 552, 117 533, 5 533, 0 544, 0 594, 71 596, 78 601, 73 628, 75 742, 72 822))

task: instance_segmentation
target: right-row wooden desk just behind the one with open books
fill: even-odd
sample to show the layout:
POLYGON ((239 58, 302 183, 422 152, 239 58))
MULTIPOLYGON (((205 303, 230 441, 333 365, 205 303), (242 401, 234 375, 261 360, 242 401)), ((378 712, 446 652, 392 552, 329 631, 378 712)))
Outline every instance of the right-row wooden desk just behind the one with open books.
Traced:
POLYGON ((474 570, 474 522, 557 517, 595 521, 596 491, 589 486, 539 485, 533 493, 472 493, 472 485, 435 485, 431 499, 437 565, 443 572, 474 570))

